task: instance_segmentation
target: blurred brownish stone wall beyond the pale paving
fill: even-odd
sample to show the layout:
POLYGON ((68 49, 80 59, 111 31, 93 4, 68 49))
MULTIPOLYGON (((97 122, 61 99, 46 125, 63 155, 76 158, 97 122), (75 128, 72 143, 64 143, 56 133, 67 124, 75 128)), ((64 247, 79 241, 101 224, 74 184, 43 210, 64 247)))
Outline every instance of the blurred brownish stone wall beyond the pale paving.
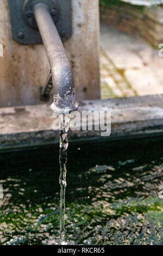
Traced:
POLYGON ((163 7, 137 7, 122 3, 101 9, 101 20, 130 34, 139 33, 155 47, 163 43, 163 7))

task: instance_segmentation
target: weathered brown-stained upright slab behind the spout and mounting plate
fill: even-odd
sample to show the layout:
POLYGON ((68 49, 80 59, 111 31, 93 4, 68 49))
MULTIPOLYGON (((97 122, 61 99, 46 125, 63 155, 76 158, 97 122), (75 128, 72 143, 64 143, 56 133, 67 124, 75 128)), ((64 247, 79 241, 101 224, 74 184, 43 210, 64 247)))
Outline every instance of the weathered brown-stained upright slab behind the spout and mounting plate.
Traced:
MULTIPOLYGON (((98 0, 72 0, 73 36, 66 42, 78 99, 99 98, 98 0)), ((12 40, 7 0, 0 1, 0 107, 39 104, 39 87, 49 64, 43 45, 19 45, 12 40)))

